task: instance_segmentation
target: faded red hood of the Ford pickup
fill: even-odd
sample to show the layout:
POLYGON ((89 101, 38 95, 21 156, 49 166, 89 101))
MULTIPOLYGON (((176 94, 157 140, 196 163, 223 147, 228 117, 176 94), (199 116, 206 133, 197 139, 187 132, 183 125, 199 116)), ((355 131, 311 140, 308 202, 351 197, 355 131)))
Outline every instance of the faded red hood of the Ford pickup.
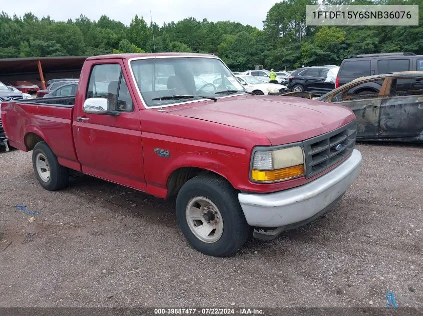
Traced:
POLYGON ((287 96, 233 96, 187 103, 166 112, 256 132, 272 145, 318 136, 355 119, 346 107, 287 96))

